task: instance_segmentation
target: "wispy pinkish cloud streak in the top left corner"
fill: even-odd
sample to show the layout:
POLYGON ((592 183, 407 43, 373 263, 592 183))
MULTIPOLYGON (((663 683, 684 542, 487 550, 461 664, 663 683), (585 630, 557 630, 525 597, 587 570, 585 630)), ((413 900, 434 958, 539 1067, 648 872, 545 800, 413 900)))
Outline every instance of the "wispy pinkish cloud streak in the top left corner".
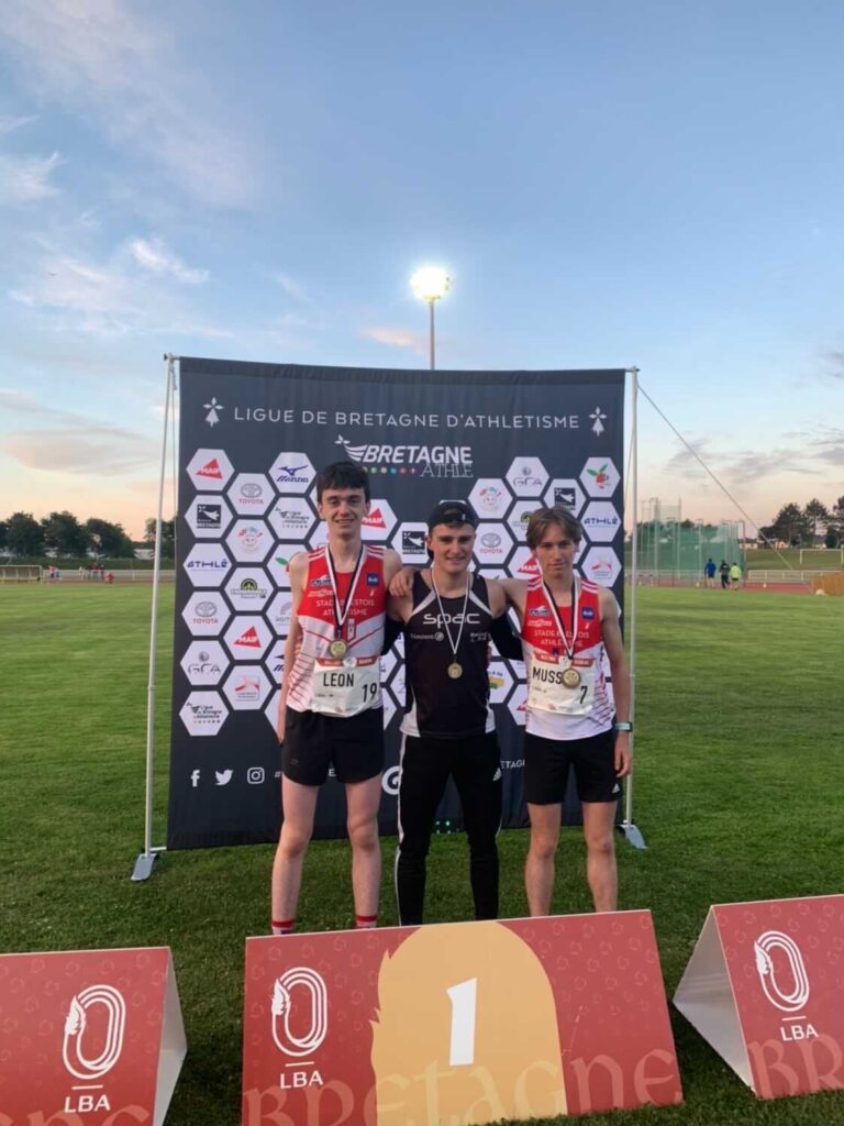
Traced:
MULTIPOLYGON (((39 98, 100 124, 194 197, 242 205, 254 194, 243 127, 185 51, 126 0, 6 0, 2 33, 39 98)), ((187 46, 187 45, 186 45, 187 46)))

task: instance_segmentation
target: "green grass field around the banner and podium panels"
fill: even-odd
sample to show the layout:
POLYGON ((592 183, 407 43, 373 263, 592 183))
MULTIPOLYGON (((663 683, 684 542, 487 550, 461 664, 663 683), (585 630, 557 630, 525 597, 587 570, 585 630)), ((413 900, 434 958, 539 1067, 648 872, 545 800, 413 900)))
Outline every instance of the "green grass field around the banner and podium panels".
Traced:
MULTIPOLYGON (((162 591, 162 623, 173 591, 162 591)), ((643 589, 635 820, 619 841, 622 908, 650 908, 668 997, 712 902, 844 890, 844 600, 643 589)), ((266 933, 271 847, 164 856, 129 874, 143 841, 150 589, 0 589, 0 949, 169 945, 189 1053, 169 1126, 239 1121, 243 939, 266 933)), ((160 635, 156 843, 163 839, 169 629, 160 635)), ((430 913, 465 919, 463 838, 439 838, 430 913)), ((502 914, 524 913, 527 834, 502 837, 502 914)), ((385 859, 394 842, 385 842, 385 859)), ((555 910, 590 908, 577 830, 558 857, 555 910)), ((385 864, 385 869, 388 864, 385 864)), ((347 926, 348 854, 308 856, 303 929, 347 926)), ((395 922, 386 887, 383 919, 395 922)), ((844 1094, 758 1102, 672 1010, 685 1103, 591 1123, 807 1124, 844 1094)), ((0 1106, 0 1110, 2 1107, 0 1106)))

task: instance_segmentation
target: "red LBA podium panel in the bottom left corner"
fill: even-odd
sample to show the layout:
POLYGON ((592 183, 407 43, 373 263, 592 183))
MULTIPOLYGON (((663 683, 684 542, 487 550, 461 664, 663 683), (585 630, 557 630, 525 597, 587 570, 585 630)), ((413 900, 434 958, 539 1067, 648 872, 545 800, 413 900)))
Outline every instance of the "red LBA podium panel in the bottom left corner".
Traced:
POLYGON ((185 1051, 168 947, 0 956, 0 1126, 159 1126, 185 1051))

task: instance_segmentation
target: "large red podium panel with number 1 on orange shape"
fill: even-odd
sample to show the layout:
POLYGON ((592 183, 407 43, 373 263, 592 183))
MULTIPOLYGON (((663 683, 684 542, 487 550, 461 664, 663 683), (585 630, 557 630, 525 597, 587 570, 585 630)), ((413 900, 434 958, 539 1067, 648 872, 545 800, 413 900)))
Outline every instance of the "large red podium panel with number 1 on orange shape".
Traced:
POLYGON ((647 911, 246 940, 243 1126, 681 1100, 647 911))

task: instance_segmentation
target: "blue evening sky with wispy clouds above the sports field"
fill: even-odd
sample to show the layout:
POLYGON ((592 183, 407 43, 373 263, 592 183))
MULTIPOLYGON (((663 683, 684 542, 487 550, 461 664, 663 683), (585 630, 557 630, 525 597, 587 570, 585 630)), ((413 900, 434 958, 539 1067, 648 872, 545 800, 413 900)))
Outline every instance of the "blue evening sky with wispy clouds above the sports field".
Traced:
POLYGON ((837 0, 6 0, 0 63, 0 517, 141 534, 164 351, 424 367, 424 262, 441 367, 636 365, 758 522, 844 493, 837 0))

